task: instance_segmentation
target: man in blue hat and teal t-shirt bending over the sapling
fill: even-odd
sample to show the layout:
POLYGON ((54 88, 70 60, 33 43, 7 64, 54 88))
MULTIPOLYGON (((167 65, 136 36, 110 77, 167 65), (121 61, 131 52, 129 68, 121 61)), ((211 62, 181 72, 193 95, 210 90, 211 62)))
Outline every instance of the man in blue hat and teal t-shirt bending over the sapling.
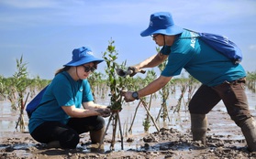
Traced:
POLYGON ((150 25, 140 33, 141 37, 151 36, 161 51, 128 69, 134 76, 144 68, 153 68, 168 60, 161 76, 148 86, 137 91, 123 91, 125 101, 139 100, 161 90, 173 76, 185 69, 202 85, 189 102, 193 140, 206 144, 206 114, 219 101, 223 101, 231 120, 241 129, 250 152, 256 152, 256 122, 250 114, 245 94, 246 72, 240 64, 210 48, 195 32, 176 26, 168 12, 150 15, 150 25), (190 38, 187 38, 190 37, 190 38))

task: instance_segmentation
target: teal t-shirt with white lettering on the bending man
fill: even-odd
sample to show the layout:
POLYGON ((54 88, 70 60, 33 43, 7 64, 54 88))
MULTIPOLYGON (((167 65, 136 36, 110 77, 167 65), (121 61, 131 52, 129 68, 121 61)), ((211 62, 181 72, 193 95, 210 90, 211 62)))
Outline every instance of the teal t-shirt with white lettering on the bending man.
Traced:
POLYGON ((184 30, 176 36, 173 46, 161 48, 162 54, 169 55, 161 76, 176 76, 185 69, 196 80, 210 87, 246 76, 240 64, 234 64, 196 36, 196 33, 184 30))

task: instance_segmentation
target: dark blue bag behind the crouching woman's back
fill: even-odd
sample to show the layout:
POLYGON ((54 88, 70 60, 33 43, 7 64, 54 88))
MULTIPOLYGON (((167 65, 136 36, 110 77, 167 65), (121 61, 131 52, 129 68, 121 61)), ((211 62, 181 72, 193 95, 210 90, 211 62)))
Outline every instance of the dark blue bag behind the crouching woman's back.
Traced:
POLYGON ((31 117, 32 112, 35 111, 39 107, 40 101, 42 100, 42 96, 43 96, 45 90, 47 89, 47 87, 48 86, 46 86, 43 90, 41 90, 39 92, 39 94, 36 97, 34 97, 34 99, 32 101, 30 101, 28 103, 28 105, 26 107, 28 119, 31 117))

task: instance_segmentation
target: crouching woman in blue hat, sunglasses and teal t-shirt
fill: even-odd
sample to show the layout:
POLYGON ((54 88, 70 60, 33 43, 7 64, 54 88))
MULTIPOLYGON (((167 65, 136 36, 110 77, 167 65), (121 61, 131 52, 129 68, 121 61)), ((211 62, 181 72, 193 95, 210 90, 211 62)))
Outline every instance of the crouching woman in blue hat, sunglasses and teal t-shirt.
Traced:
POLYGON ((102 61, 88 47, 73 49, 72 60, 57 70, 29 119, 28 130, 36 141, 73 149, 79 143, 79 134, 90 132, 92 143, 101 142, 103 117, 108 117, 110 110, 94 102, 86 79, 102 61))

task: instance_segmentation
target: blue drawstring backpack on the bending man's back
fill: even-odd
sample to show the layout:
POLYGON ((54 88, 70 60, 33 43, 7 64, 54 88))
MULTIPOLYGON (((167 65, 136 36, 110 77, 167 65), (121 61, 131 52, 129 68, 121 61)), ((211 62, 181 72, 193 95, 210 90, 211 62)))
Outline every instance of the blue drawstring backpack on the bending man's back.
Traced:
POLYGON ((241 62, 242 52, 240 48, 235 43, 230 41, 228 37, 211 33, 199 33, 192 30, 188 31, 198 34, 198 37, 209 47, 216 49, 218 52, 231 59, 231 61, 233 61, 235 64, 241 62))

